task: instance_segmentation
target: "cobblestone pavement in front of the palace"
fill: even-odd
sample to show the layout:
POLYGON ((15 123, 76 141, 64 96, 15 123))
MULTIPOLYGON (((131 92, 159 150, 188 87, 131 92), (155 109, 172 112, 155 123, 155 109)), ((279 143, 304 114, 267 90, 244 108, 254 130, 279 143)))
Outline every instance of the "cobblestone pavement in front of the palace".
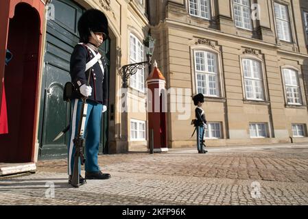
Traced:
POLYGON ((40 161, 36 174, 0 178, 0 205, 308 205, 308 144, 208 151, 100 155, 112 177, 80 188, 65 159, 40 161))

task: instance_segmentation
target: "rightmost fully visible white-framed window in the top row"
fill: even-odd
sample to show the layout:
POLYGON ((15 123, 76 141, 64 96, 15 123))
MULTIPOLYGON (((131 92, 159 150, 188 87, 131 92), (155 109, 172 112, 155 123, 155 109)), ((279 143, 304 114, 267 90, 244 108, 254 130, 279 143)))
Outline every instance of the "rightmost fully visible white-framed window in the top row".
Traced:
POLYGON ((281 3, 274 2, 274 14, 275 14, 276 32, 277 32, 277 36, 279 40, 283 40, 285 42, 292 42, 291 20, 289 17, 288 6, 283 5, 281 3), (276 7, 278 7, 279 14, 281 16, 279 16, 279 14, 276 13, 276 9, 277 9, 276 7), (285 12, 285 14, 283 14, 283 12, 285 12), (281 29, 281 32, 279 32, 279 27, 281 29), (286 27, 287 29, 285 29, 286 27))

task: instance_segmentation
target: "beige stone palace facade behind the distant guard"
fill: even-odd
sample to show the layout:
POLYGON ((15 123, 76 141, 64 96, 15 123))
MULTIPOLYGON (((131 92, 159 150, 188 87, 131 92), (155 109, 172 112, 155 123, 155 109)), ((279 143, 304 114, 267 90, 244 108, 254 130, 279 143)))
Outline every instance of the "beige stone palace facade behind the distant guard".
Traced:
MULTIPOLYGON (((167 88, 204 94, 207 145, 307 142, 307 1, 178 0, 150 8, 167 88)), ((168 114, 169 147, 196 145, 194 114, 179 114, 168 114)))

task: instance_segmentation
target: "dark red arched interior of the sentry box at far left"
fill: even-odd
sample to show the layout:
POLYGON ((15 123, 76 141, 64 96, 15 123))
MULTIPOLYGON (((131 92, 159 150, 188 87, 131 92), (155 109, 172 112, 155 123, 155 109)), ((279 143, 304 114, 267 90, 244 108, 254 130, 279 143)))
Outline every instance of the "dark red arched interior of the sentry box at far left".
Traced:
POLYGON ((7 48, 13 54, 4 71, 9 133, 0 135, 0 162, 34 162, 40 16, 31 5, 16 5, 7 48))

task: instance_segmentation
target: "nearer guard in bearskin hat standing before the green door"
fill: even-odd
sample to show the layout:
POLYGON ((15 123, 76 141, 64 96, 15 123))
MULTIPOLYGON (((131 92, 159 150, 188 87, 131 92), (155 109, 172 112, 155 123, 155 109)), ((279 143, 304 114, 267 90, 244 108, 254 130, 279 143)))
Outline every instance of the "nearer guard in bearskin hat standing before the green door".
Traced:
MULTIPOLYGON (((97 163, 101 131, 102 112, 108 105, 108 73, 106 59, 98 48, 108 37, 108 20, 103 12, 96 9, 87 10, 78 21, 80 43, 75 46, 71 55, 71 82, 74 92, 71 99, 71 125, 69 142, 69 183, 74 166, 75 144, 78 135, 82 98, 86 98, 86 120, 84 125, 85 139, 85 179, 109 179, 97 163), (89 80, 89 81, 88 81, 89 80), (89 85, 87 86, 87 81, 89 85)), ((79 165, 79 172, 80 172, 79 165)), ((80 175, 80 185, 86 182, 80 175)))

